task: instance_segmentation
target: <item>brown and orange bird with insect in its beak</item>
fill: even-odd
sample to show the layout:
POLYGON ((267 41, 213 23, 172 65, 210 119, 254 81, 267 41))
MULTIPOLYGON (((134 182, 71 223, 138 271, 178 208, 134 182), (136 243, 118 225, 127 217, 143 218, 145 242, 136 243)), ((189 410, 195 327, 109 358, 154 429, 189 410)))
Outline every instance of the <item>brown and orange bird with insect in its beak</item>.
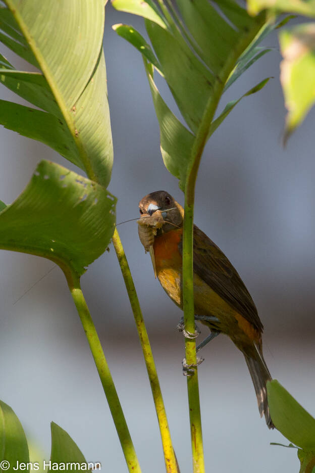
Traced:
MULTIPOLYGON (((156 191, 140 200, 139 211, 139 238, 150 253, 155 277, 183 309, 184 209, 168 192, 156 191)), ((268 427, 273 429, 266 387, 272 377, 263 355, 263 324, 232 263, 196 225, 193 226, 193 291, 195 320, 206 325, 214 336, 222 333, 230 337, 243 353, 260 417, 265 415, 268 427)))

